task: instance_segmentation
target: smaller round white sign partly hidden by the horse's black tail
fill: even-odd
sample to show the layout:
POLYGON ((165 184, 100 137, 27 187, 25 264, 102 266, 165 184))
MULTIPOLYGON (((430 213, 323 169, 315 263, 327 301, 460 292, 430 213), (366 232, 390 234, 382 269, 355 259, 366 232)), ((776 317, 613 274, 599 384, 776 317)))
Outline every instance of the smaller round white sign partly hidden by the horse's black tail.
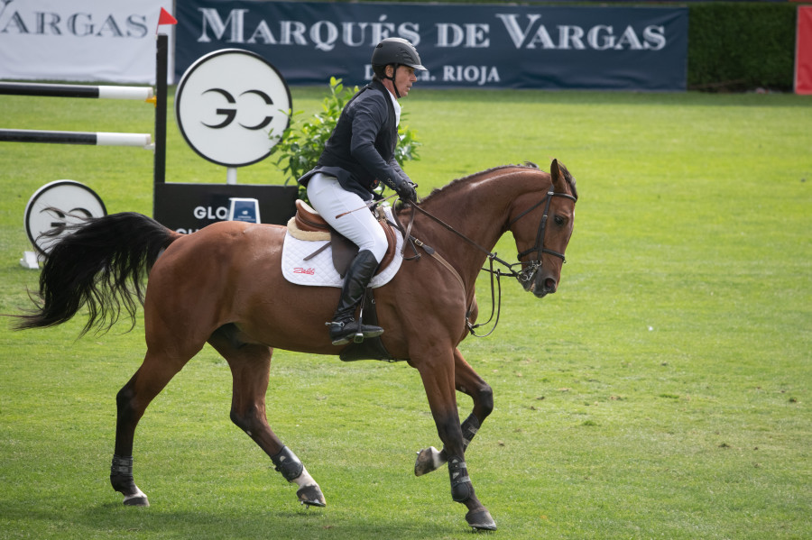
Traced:
POLYGON ((25 232, 38 252, 47 255, 65 227, 83 218, 102 217, 107 209, 96 192, 73 180, 55 180, 36 190, 25 206, 25 232), (43 233, 53 233, 42 236, 43 233))

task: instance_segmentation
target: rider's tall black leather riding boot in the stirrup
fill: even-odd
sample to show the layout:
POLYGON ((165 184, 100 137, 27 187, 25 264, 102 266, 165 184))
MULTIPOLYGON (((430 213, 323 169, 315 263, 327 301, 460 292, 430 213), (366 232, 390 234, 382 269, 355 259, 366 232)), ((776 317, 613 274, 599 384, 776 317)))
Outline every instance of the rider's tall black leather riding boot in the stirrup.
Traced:
POLYGON ((334 345, 343 345, 362 337, 377 337, 383 334, 383 328, 373 325, 362 325, 355 320, 355 307, 364 297, 364 290, 369 285, 378 261, 369 250, 358 252, 350 263, 349 270, 344 277, 344 286, 341 288, 341 297, 330 327, 330 340, 334 345))

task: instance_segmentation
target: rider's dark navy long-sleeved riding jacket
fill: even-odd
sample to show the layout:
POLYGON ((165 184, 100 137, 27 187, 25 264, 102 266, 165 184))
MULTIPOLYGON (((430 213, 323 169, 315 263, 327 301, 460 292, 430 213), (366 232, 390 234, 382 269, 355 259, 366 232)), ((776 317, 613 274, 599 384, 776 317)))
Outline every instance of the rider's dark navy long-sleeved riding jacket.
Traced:
POLYGON ((389 90, 373 80, 345 105, 316 168, 299 178, 299 183, 307 186, 310 177, 321 172, 338 178, 342 188, 369 200, 378 181, 392 189, 401 182, 411 182, 394 158, 396 122, 389 90))

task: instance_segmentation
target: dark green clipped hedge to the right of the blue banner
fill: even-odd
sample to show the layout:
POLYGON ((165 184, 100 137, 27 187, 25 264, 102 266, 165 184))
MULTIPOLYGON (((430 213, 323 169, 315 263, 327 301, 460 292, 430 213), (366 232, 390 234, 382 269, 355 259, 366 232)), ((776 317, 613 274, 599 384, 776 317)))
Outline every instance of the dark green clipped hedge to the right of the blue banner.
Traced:
POLYGON ((796 5, 691 5, 687 85, 708 91, 791 90, 796 5))

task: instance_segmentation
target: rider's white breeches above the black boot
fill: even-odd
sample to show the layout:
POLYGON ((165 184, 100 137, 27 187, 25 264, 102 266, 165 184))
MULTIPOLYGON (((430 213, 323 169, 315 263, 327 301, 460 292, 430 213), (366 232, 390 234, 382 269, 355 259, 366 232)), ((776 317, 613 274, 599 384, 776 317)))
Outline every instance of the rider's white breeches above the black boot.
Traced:
POLYGON ((387 248, 386 234, 373 213, 364 208, 364 199, 342 188, 337 178, 321 173, 310 178, 308 198, 310 206, 334 229, 355 243, 360 251, 369 250, 375 261, 383 261, 387 248), (337 218, 340 214, 344 215, 337 218))

